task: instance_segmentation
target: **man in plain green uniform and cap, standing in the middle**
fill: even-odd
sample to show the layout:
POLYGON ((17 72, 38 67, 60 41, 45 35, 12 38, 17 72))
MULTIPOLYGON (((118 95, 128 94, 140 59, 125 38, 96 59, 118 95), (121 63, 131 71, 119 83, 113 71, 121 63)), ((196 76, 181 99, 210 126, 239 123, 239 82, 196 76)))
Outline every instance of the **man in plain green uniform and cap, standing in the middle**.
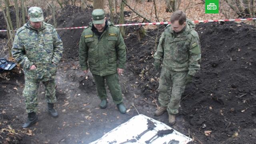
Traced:
POLYGON ((107 107, 106 80, 114 103, 122 114, 126 113, 118 81, 118 74, 122 74, 126 63, 126 46, 120 30, 106 20, 102 9, 93 10, 92 22, 82 32, 79 62, 86 74, 88 68, 92 72, 101 100, 100 108, 107 107))

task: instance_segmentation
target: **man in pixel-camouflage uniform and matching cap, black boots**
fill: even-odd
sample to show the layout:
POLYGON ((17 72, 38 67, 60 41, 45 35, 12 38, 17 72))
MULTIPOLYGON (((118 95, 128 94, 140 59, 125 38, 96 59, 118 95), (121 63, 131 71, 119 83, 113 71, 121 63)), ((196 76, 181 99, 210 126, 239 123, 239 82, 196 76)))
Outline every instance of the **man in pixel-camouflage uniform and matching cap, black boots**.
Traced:
POLYGON ((63 52, 62 41, 54 27, 43 22, 44 16, 41 8, 29 8, 28 19, 28 22, 17 30, 12 46, 12 55, 22 66, 25 74, 23 96, 28 119, 23 124, 23 128, 38 121, 37 91, 40 82, 45 86, 48 112, 53 117, 58 117, 54 109, 54 103, 56 103, 54 78, 63 52))

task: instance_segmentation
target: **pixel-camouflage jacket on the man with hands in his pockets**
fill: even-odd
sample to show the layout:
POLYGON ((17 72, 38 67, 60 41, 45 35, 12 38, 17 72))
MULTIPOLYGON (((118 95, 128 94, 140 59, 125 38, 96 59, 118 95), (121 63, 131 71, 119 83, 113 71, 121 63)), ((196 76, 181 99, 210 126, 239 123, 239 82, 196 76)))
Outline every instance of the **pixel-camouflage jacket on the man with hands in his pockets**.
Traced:
POLYGON ((30 26, 30 22, 24 24, 17 30, 12 46, 12 56, 23 67, 27 80, 53 79, 62 52, 62 41, 56 30, 44 22, 39 30, 30 26), (36 69, 29 70, 33 64, 36 69))

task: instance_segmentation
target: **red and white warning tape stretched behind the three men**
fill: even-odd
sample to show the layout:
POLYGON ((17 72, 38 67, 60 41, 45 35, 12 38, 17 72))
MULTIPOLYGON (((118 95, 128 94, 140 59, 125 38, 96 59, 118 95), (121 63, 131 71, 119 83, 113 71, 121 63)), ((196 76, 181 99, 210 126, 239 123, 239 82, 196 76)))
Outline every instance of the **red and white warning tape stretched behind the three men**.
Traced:
MULTIPOLYGON (((231 22, 231 21, 244 21, 244 20, 256 20, 256 18, 242 18, 242 19, 231 19, 231 20, 194 20, 194 23, 200 22, 231 22)), ((150 23, 136 23, 136 24, 116 24, 115 26, 141 26, 141 25, 161 25, 170 24, 170 22, 150 22, 150 23)), ((79 26, 73 28, 56 28, 56 30, 68 30, 68 29, 78 29, 87 28, 87 26, 79 26)), ((0 32, 6 32, 7 30, 0 30, 0 32)))

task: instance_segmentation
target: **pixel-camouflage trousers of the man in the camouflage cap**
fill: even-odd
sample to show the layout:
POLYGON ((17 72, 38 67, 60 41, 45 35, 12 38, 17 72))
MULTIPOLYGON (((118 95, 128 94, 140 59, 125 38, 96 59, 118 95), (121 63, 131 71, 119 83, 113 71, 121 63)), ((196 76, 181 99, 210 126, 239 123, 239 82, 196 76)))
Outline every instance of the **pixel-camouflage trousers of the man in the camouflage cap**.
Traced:
MULTIPOLYGON (((49 103, 56 103, 57 99, 55 96, 55 80, 48 80, 48 81, 42 81, 42 83, 45 86, 45 98, 46 102, 49 103)), ((37 112, 37 106, 38 106, 38 88, 39 88, 40 81, 30 81, 26 80, 25 78, 25 87, 23 90, 23 96, 25 98, 26 103, 26 112, 37 112)))

